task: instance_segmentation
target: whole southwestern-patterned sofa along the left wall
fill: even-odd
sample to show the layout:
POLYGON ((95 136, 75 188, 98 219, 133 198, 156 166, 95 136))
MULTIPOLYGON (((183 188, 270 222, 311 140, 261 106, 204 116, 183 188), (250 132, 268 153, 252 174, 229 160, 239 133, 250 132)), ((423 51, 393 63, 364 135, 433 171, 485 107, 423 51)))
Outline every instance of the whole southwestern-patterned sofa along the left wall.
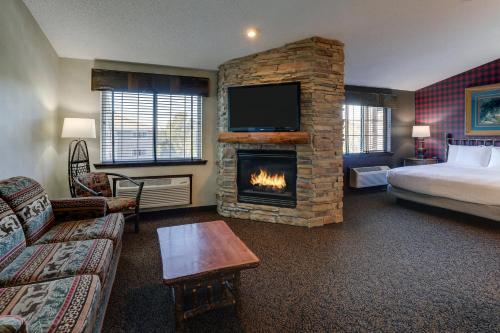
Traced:
POLYGON ((49 200, 35 180, 0 180, 0 332, 99 332, 121 251, 104 198, 49 200))

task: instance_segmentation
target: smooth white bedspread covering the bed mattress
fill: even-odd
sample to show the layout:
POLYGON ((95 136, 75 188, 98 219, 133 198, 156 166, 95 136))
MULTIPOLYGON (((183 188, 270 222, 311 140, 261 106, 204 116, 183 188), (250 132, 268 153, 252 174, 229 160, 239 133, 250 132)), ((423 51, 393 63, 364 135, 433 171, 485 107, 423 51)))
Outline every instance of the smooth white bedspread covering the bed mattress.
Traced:
POLYGON ((389 184, 405 190, 500 206, 500 171, 448 163, 389 170, 389 184))

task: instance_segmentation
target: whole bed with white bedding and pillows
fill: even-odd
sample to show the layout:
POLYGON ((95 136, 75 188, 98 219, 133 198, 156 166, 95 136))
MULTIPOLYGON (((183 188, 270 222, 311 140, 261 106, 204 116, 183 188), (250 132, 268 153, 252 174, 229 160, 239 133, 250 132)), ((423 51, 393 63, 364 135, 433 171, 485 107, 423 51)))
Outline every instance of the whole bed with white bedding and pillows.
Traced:
POLYGON ((395 168, 388 192, 397 198, 500 221, 500 141, 446 136, 445 163, 395 168))

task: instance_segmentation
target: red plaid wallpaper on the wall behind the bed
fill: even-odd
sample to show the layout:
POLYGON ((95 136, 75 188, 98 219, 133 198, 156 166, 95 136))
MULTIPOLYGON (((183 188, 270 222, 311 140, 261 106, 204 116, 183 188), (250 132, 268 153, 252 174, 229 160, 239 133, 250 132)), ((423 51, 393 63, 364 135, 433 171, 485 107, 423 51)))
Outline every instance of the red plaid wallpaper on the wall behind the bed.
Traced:
POLYGON ((500 83, 500 59, 415 92, 415 123, 429 125, 427 155, 444 158, 446 133, 465 136, 465 88, 500 83))

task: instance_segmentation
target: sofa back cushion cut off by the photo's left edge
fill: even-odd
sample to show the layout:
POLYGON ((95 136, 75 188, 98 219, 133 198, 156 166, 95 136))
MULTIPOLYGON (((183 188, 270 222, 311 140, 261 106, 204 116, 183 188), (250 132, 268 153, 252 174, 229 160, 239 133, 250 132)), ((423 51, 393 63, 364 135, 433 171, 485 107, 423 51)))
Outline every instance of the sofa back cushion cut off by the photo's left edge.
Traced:
POLYGON ((23 227, 16 214, 0 199, 0 270, 26 247, 23 227))

